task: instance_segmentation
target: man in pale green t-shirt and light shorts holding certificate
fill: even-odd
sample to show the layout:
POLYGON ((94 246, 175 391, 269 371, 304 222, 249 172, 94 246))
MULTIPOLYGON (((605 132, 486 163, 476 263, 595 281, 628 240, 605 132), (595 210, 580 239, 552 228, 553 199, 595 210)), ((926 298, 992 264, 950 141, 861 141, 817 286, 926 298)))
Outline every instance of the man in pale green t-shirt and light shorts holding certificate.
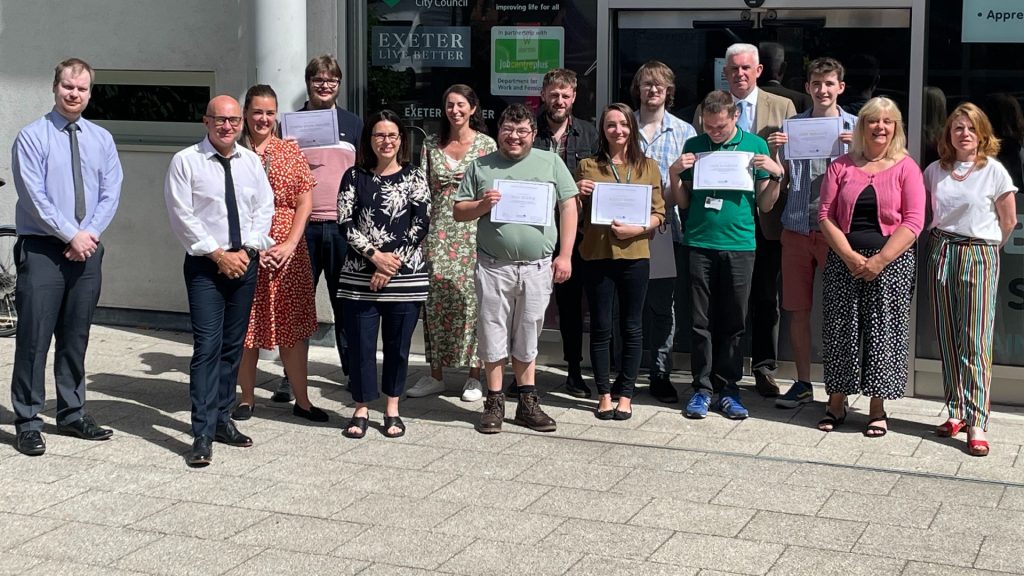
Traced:
MULTIPOLYGON (((498 122, 498 152, 478 158, 466 169, 455 198, 455 219, 476 220, 476 299, 478 356, 483 361, 487 397, 476 429, 502 431, 505 363, 519 384, 515 422, 539 431, 554 431, 555 421, 541 409, 535 384, 538 340, 554 283, 572 274, 578 194, 575 181, 558 155, 532 150, 537 119, 522 105, 512 105, 498 122), (543 182, 548 198, 538 199, 544 224, 492 220, 492 208, 502 200, 495 180, 543 182), (553 221, 558 202, 559 227, 553 221), (552 259, 555 241, 558 256, 552 259), (510 338, 511 336, 511 338, 510 338)), ((524 208, 525 212, 538 212, 524 208)), ((514 219, 514 218, 512 218, 514 219)))

